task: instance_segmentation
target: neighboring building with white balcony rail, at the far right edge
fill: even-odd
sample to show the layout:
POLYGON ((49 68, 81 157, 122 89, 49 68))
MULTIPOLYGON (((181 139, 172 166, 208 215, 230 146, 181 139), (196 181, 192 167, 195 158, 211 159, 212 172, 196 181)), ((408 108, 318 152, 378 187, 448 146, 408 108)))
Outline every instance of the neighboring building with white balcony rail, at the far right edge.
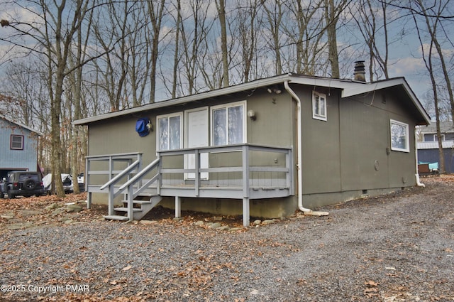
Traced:
MULTIPOLYGON (((418 141, 418 161, 420 163, 440 163, 436 123, 419 127, 423 141, 418 141)), ((445 159, 445 173, 454 173, 454 124, 440 122, 441 145, 445 159)))

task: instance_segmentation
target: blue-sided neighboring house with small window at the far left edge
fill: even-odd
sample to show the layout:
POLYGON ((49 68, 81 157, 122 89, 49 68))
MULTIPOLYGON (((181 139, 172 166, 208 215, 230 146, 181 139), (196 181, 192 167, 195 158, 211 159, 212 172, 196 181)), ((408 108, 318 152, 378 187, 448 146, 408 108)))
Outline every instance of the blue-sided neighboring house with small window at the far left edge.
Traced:
POLYGON ((39 134, 0 115, 0 179, 9 171, 38 171, 39 134))

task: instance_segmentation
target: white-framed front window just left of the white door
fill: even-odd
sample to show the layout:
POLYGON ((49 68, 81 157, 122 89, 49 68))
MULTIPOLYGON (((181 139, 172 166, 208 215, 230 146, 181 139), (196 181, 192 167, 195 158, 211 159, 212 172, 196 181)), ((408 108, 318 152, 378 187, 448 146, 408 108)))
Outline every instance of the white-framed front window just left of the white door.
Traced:
POLYGON ((182 113, 157 117, 157 149, 182 148, 182 113))

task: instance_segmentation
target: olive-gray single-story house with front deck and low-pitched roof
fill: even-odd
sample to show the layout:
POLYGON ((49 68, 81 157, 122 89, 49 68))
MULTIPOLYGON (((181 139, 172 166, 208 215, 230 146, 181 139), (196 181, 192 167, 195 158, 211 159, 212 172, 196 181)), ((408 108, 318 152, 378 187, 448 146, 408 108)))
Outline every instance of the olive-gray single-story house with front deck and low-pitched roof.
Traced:
POLYGON ((79 119, 89 204, 109 200, 119 220, 157 203, 177 217, 243 213, 247 226, 418 184, 428 114, 403 77, 358 79, 289 73, 79 119))

